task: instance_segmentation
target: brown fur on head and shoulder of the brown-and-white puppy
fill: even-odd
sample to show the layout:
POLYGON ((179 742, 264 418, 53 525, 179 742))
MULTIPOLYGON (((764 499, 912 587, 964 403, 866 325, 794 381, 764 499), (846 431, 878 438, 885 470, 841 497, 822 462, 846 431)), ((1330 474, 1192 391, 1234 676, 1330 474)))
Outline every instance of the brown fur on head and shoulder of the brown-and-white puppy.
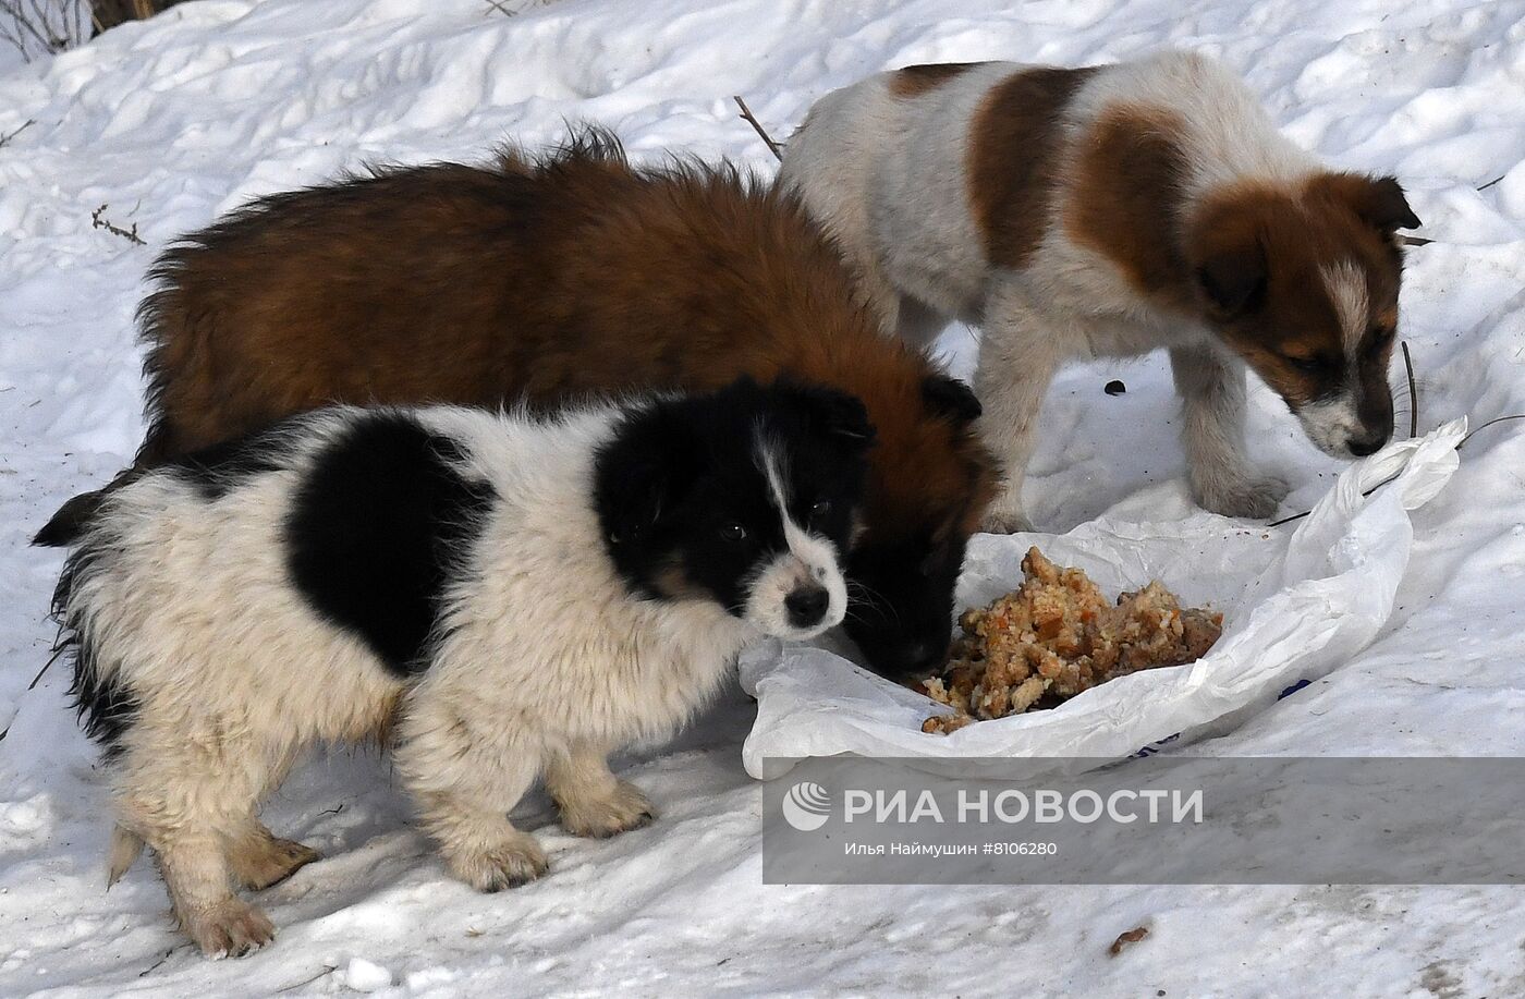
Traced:
MULTIPOLYGON (((1179 119, 1159 108, 1121 107, 1096 120, 1075 157, 1066 230, 1156 307, 1220 329, 1293 407, 1312 403, 1328 386, 1292 360, 1328 357, 1336 368, 1342 354, 1321 265, 1351 259, 1366 276, 1368 325, 1397 323, 1403 261, 1388 226, 1412 218, 1401 191, 1327 172, 1302 189, 1246 183, 1186 204, 1179 134, 1179 119), (1203 294, 1203 275, 1255 300, 1225 310, 1203 294)), ((1389 352, 1391 337, 1366 358, 1372 372, 1386 371, 1389 352)))

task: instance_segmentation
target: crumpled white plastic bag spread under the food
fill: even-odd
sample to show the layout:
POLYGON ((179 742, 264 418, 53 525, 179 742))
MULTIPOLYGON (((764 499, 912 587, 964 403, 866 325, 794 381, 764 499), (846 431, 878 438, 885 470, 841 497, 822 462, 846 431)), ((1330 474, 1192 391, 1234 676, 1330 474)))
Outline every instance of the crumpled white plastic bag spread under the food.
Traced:
POLYGON ((1203 659, 1119 677, 1054 708, 926 735, 932 700, 811 647, 758 645, 741 685, 758 699, 743 747, 747 773, 776 778, 804 756, 1090 756, 1100 764, 1223 723, 1273 702, 1366 647, 1392 612, 1409 563, 1409 511, 1456 470, 1458 419, 1347 468, 1292 526, 1263 528, 1199 512, 1167 525, 1109 523, 1064 535, 978 535, 959 581, 961 607, 1022 581, 1031 544, 1080 566, 1104 592, 1161 580, 1183 604, 1222 610, 1223 638, 1203 659), (1362 493, 1397 474, 1366 497, 1362 493))

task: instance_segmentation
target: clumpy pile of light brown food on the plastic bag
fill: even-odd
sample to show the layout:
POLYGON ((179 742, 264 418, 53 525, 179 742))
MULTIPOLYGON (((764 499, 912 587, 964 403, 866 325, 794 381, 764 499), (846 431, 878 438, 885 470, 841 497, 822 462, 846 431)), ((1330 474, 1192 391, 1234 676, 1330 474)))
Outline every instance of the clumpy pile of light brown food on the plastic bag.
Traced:
POLYGON ((1194 662, 1223 633, 1223 615, 1183 609, 1159 581, 1110 602, 1084 572, 1055 566, 1037 548, 1022 572, 1020 587, 959 618, 952 660, 921 683, 953 714, 927 718, 923 732, 946 735, 1139 670, 1194 662))

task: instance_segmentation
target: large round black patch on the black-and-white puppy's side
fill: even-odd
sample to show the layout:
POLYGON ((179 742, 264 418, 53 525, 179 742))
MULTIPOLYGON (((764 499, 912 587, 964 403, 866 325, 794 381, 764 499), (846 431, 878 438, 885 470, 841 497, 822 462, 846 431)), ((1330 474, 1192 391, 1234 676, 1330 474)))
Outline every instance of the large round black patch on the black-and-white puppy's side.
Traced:
POLYGON ((297 590, 404 677, 427 668, 444 589, 493 502, 461 458, 406 413, 369 413, 319 453, 287 519, 297 590))

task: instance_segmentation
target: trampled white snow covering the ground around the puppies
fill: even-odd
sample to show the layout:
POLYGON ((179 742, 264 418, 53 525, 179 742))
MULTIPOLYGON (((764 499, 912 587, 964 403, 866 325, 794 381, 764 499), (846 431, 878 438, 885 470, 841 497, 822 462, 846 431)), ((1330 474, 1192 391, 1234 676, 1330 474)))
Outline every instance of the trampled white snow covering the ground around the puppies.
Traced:
MULTIPOLYGON (((1090 63, 1164 44, 1225 58, 1298 142, 1397 172, 1434 239, 1409 255, 1401 336, 1420 427, 1525 412, 1525 0, 201 0, 30 66, 0 61, 0 994, 817 993, 1525 994, 1508 888, 769 888, 732 692, 627 760, 663 814, 608 842, 523 808, 552 874, 502 895, 450 880, 375 753, 302 769, 268 824, 325 860, 265 894, 273 949, 207 962, 151 865, 102 891, 95 750, 47 660, 55 552, 26 538, 140 433, 131 313, 154 253, 244 200, 368 160, 477 157, 563 119, 637 157, 773 162, 827 90, 884 67, 1090 63), (1501 180, 1502 178, 1502 180, 1501 180), (92 214, 146 246, 92 226, 92 214), (1150 927, 1121 956, 1119 932, 1150 927)), ((944 340, 967 371, 968 331, 944 340)), ((1395 372, 1397 374, 1397 372, 1395 372)), ((1029 509, 1183 517, 1161 358, 1055 384, 1029 509), (1128 392, 1103 395, 1121 377, 1128 392)), ((1406 403, 1400 407, 1406 426, 1406 403)), ((1394 619, 1214 753, 1525 755, 1525 424, 1479 433, 1415 517, 1394 619)), ((1255 451, 1305 509, 1333 462, 1264 390, 1255 451)), ((1208 538, 1203 537, 1203 543, 1208 538)))

